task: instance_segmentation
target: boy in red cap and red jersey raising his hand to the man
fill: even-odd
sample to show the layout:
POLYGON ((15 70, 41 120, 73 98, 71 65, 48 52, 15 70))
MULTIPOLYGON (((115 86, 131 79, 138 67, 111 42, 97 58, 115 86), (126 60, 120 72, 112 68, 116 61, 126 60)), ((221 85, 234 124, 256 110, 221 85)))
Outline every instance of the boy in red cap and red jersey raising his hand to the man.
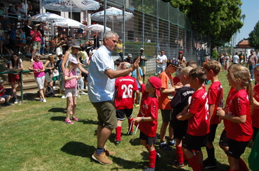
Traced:
POLYGON ((137 68, 137 80, 141 84, 141 105, 139 114, 133 119, 140 130, 140 143, 149 151, 148 168, 144 170, 155 170, 155 142, 158 129, 158 99, 160 96, 161 80, 158 77, 150 77, 146 85, 142 82, 139 68, 137 68))

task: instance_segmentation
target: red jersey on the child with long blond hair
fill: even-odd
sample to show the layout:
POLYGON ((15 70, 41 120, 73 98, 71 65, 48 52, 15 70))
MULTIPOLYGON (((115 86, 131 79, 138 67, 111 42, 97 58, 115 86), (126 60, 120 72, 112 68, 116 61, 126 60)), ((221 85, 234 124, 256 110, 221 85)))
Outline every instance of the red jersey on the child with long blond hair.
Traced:
POLYGON ((245 89, 235 91, 232 94, 229 109, 228 114, 232 116, 246 115, 246 122, 244 124, 237 124, 233 121, 228 121, 227 137, 239 142, 250 141, 253 135, 253 128, 251 125, 250 104, 245 89))

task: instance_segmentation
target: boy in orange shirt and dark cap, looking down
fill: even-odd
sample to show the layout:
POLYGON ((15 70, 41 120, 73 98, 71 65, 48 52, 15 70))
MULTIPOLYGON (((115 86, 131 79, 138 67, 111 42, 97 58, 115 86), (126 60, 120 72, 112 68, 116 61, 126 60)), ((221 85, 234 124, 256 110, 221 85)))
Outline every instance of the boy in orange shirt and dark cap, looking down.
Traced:
MULTIPOLYGON (((172 150, 172 147, 165 142, 165 133, 167 126, 172 119, 172 107, 170 106, 170 101, 173 98, 175 92, 174 81, 172 74, 176 72, 178 68, 178 63, 176 60, 167 61, 167 68, 163 71, 159 77, 162 82, 161 86, 161 96, 158 97, 158 108, 161 110, 162 114, 162 126, 160 128, 160 149, 172 150)), ((172 126, 169 125, 169 143, 174 145, 174 133, 172 126)))

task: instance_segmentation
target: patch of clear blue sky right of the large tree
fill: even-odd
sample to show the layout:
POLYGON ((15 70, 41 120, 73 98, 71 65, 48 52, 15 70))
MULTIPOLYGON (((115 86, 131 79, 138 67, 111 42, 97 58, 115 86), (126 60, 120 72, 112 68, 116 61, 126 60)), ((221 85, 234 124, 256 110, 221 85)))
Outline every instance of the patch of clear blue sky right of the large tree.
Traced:
MULTIPOLYGON (((259 21, 259 0, 241 0, 242 15, 246 15, 244 19, 244 25, 240 29, 240 33, 237 34, 236 44, 244 39, 248 38, 248 34, 253 31, 253 27, 259 21)), ((243 21, 242 21, 243 22, 243 21)))

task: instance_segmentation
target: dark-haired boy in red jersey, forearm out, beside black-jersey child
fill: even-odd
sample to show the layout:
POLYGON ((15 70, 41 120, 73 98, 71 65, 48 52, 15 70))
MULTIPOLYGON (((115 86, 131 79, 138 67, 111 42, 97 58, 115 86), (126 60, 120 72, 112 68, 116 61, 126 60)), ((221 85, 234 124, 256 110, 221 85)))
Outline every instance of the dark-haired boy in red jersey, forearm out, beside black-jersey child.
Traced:
POLYGON ((195 92, 190 101, 189 110, 185 114, 177 114, 180 121, 188 119, 186 136, 183 139, 183 153, 186 155, 190 166, 194 171, 201 171, 202 150, 206 146, 209 133, 209 105, 206 89, 202 87, 206 80, 206 74, 201 67, 190 70, 190 87, 195 92), (195 151, 195 155, 193 154, 195 151))

